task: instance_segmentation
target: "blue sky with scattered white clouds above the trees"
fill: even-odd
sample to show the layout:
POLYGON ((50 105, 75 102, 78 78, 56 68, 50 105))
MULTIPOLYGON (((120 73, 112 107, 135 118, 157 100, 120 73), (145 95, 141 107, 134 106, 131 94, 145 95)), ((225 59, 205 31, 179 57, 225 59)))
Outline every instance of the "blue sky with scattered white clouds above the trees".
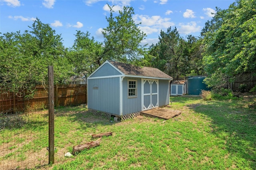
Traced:
POLYGON ((65 47, 74 43, 76 30, 88 31, 102 42, 102 28, 108 26, 110 6, 114 11, 123 6, 134 8, 133 19, 147 34, 142 43, 158 42, 160 30, 176 26, 181 36, 199 36, 215 7, 227 9, 235 0, 0 0, 0 32, 29 30, 37 17, 61 34, 65 47))

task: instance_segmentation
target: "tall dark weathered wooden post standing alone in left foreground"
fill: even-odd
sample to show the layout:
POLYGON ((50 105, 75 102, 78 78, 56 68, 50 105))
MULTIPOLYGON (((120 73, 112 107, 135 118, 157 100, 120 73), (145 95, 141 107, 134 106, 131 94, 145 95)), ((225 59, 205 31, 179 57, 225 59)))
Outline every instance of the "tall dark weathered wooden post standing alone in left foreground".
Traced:
POLYGON ((49 164, 54 163, 54 77, 53 66, 48 66, 48 123, 49 123, 49 164))

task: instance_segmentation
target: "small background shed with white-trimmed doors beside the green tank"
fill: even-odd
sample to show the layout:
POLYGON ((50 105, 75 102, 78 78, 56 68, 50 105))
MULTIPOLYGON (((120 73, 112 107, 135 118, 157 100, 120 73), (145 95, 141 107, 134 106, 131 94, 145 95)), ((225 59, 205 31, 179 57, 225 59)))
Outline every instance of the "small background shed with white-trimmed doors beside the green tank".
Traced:
POLYGON ((176 80, 173 81, 170 85, 171 95, 183 95, 186 94, 186 81, 185 80, 176 80))

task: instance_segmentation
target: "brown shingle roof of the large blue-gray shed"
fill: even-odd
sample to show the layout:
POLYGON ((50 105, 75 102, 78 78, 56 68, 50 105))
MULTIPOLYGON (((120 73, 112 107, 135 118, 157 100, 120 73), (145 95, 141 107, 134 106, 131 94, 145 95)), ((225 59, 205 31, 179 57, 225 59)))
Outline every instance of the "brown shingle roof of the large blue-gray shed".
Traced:
POLYGON ((170 75, 162 72, 157 68, 152 67, 138 67, 126 63, 120 63, 116 61, 109 61, 114 67, 118 68, 125 75, 139 75, 145 77, 158 77, 165 79, 173 79, 170 75))

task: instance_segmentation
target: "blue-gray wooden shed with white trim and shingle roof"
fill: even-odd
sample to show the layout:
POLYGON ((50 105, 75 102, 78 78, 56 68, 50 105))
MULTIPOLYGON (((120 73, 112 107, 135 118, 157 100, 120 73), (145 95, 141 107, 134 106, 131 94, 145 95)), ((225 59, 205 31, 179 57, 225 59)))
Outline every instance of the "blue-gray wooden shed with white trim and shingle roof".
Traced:
POLYGON ((95 115, 126 119, 169 105, 172 79, 156 68, 107 60, 88 77, 88 109, 95 115))

